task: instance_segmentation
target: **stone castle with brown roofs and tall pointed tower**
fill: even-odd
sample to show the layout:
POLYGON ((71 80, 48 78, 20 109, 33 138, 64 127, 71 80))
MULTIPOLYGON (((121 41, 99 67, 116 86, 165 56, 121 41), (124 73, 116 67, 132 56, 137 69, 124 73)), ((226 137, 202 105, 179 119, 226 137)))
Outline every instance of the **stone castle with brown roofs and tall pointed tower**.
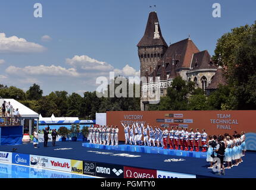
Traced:
POLYGON ((148 110, 149 104, 159 103, 177 75, 185 81, 194 81, 205 91, 213 78, 218 83, 218 76, 214 77, 218 66, 211 61, 208 51, 200 51, 190 37, 167 45, 157 12, 149 13, 145 34, 137 46, 141 77, 146 78, 141 84, 141 110, 148 110))

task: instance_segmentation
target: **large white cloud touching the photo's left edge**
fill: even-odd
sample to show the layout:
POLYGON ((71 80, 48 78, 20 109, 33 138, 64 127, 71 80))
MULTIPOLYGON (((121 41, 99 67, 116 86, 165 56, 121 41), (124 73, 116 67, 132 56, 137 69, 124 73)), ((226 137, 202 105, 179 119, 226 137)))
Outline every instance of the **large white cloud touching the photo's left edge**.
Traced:
POLYGON ((5 33, 0 33, 0 53, 28 53, 28 52, 43 52, 45 47, 27 42, 26 39, 18 38, 17 36, 6 37, 5 33))

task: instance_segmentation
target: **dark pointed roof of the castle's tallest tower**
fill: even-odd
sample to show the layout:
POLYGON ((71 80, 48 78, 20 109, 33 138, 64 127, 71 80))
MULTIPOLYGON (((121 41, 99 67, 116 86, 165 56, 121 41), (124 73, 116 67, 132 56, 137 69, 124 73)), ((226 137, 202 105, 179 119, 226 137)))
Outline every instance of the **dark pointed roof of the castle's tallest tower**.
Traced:
POLYGON ((157 12, 150 12, 148 17, 148 23, 146 24, 145 34, 137 46, 139 47, 139 46, 155 46, 155 45, 163 45, 168 47, 161 33, 157 12), (154 38, 156 25, 158 29, 158 37, 154 38))

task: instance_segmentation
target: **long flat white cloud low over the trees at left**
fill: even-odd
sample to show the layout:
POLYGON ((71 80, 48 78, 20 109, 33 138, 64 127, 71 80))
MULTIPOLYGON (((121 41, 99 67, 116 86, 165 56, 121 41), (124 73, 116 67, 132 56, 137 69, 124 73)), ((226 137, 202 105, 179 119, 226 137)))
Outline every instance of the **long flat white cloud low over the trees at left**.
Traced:
POLYGON ((79 74, 76 72, 74 68, 63 68, 62 66, 25 66, 24 68, 16 67, 16 66, 8 66, 5 69, 5 72, 8 74, 15 75, 50 75, 50 76, 69 76, 69 77, 78 77, 79 74))

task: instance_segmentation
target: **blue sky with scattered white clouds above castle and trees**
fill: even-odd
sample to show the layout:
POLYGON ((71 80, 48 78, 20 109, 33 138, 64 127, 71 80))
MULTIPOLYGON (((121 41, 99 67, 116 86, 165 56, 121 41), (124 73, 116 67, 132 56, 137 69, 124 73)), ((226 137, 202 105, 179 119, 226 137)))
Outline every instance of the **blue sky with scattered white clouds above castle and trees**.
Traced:
POLYGON ((136 45, 150 5, 167 44, 190 34, 210 55, 224 33, 256 20, 255 0, 0 0, 0 84, 82 94, 110 71, 139 76, 136 45), (216 2, 220 18, 212 15, 216 2), (36 3, 42 18, 34 17, 36 3))

